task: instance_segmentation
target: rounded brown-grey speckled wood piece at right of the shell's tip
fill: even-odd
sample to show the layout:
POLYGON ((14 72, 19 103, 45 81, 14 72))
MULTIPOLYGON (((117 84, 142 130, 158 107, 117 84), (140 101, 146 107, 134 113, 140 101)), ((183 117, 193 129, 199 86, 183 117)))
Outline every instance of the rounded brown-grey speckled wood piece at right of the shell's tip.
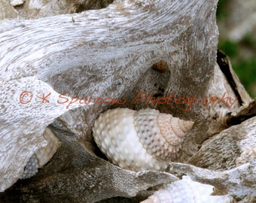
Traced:
MULTIPOLYGON (((191 165, 224 171, 256 159, 255 117, 215 135, 190 158, 191 165)), ((255 177, 256 178, 256 177, 255 177)))

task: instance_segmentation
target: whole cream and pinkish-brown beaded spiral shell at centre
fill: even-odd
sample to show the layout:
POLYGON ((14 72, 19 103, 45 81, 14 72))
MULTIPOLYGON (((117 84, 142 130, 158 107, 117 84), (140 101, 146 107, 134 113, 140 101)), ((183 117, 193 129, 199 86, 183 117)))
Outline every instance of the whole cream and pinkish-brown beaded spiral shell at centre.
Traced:
POLYGON ((93 138, 108 159, 121 168, 162 170, 193 124, 155 109, 115 108, 95 121, 93 138))

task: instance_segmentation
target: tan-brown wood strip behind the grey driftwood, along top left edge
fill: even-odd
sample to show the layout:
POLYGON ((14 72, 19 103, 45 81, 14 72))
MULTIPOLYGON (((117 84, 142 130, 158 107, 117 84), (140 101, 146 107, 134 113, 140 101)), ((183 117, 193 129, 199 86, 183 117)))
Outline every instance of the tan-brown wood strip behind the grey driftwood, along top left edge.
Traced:
POLYGON ((0 21, 35 19, 105 8, 114 0, 0 0, 0 21))

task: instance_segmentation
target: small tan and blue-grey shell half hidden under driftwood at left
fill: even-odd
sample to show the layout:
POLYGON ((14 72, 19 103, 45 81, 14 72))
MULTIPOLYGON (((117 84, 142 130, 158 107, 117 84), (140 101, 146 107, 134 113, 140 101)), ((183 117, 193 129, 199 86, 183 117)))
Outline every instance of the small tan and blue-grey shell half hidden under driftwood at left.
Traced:
POLYGON ((34 176, 41 168, 53 157, 54 153, 60 146, 60 141, 55 137, 50 129, 44 130, 44 139, 48 142, 46 146, 41 147, 30 157, 29 162, 26 163, 23 174, 20 179, 26 179, 34 176))

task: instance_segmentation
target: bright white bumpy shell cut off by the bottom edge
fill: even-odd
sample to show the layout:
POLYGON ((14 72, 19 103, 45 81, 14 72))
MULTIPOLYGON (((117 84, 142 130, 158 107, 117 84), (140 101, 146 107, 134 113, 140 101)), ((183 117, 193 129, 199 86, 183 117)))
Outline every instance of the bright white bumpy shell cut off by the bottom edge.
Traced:
POLYGON ((193 181, 188 176, 163 186, 141 203, 234 203, 229 195, 211 195, 214 186, 193 181))

